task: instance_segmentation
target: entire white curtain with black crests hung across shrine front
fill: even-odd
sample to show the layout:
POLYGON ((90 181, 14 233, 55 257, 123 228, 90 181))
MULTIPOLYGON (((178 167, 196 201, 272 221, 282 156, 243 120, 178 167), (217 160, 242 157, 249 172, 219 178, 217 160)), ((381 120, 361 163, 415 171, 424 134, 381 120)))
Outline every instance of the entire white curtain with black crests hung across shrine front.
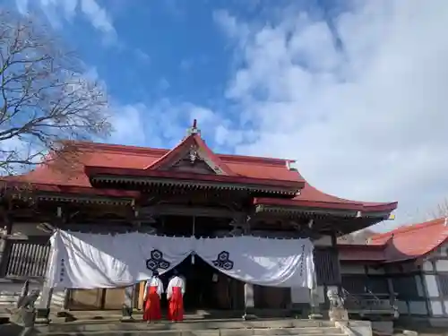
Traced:
POLYGON ((57 230, 48 284, 57 289, 131 286, 176 267, 189 254, 237 280, 272 287, 313 284, 309 239, 162 237, 139 232, 100 235, 57 230))

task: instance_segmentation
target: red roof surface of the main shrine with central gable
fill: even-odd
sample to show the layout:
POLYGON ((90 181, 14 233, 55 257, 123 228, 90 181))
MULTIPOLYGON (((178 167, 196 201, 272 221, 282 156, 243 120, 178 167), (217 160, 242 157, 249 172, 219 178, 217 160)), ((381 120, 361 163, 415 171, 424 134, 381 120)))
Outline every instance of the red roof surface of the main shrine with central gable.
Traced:
MULTIPOLYGON (((226 175, 220 177, 226 179, 226 181, 231 177, 235 180, 241 179, 242 183, 254 179, 255 182, 263 180, 263 184, 266 185, 272 185, 277 181, 278 185, 291 184, 303 187, 300 195, 294 199, 258 198, 254 200, 255 204, 356 211, 393 211, 397 207, 396 202, 356 202, 324 194, 313 186, 308 185, 296 170, 289 168, 289 163, 293 163, 293 160, 215 154, 206 146, 199 134, 192 134, 186 137, 171 151, 105 143, 73 143, 82 151, 82 154, 80 154, 80 158, 78 159, 80 163, 74 165, 70 172, 54 169, 52 168, 52 164, 49 163, 47 165, 42 164, 35 170, 15 178, 19 181, 37 185, 57 185, 59 188, 67 188, 70 186, 94 189, 90 185, 90 179, 85 173, 86 169, 104 168, 111 171, 129 169, 129 171, 134 172, 151 172, 151 175, 156 173, 161 174, 161 171, 156 171, 157 169, 154 168, 167 165, 182 148, 195 143, 215 165, 224 171, 226 175)), ((163 173, 166 174, 166 172, 163 173)), ((203 174, 202 178, 204 178, 203 174)), ((101 191, 98 192, 102 193, 101 191)))

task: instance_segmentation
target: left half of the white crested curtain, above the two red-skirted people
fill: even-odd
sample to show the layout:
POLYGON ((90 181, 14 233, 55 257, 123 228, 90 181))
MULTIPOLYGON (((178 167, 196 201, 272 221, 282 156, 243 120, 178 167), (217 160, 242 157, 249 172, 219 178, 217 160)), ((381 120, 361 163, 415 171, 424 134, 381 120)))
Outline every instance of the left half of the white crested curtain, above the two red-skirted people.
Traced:
POLYGON ((138 232, 99 235, 56 231, 47 274, 53 288, 95 289, 130 286, 164 273, 192 252, 190 237, 159 237, 138 232))

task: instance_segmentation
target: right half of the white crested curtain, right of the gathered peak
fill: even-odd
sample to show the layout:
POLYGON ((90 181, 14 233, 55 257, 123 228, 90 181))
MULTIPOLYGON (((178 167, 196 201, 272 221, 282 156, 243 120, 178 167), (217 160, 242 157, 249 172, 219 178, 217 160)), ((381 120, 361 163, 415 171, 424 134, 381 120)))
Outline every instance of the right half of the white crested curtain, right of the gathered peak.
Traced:
POLYGON ((312 287, 313 244, 309 239, 202 238, 195 251, 206 263, 237 280, 272 287, 312 287))

